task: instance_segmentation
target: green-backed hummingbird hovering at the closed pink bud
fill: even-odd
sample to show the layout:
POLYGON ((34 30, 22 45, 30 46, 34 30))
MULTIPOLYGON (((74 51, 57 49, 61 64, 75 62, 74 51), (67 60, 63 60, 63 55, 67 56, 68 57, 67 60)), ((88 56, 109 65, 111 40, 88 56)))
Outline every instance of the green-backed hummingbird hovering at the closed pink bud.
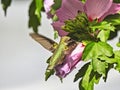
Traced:
POLYGON ((45 73, 45 80, 54 74, 55 66, 62 64, 65 56, 69 54, 78 44, 78 42, 68 36, 61 37, 59 43, 38 33, 30 33, 30 36, 45 49, 53 53, 53 55, 47 60, 48 67, 45 73))

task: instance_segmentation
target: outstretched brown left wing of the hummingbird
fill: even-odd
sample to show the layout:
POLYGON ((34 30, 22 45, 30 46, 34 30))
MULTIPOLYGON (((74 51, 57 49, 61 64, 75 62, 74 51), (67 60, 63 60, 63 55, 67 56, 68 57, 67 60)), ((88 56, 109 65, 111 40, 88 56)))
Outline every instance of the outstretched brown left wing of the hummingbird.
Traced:
POLYGON ((40 45, 42 45, 45 49, 49 50, 50 52, 54 53, 58 43, 47 38, 41 34, 37 33, 30 33, 30 36, 37 41, 40 45))

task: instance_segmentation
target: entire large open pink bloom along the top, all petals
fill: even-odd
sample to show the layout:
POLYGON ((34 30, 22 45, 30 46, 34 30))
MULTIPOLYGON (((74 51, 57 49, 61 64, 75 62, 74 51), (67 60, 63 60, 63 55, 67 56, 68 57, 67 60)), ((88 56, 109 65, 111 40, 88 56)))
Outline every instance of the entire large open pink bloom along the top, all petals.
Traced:
POLYGON ((78 11, 86 13, 90 21, 95 19, 102 21, 106 16, 116 14, 120 11, 120 4, 113 3, 113 0, 87 0, 85 4, 80 0, 62 0, 61 8, 56 11, 59 21, 53 22, 52 24, 54 29, 58 30, 60 36, 68 34, 67 32, 63 33, 61 29, 64 21, 75 18, 78 11), (59 29, 56 24, 58 22, 62 23, 59 25, 59 29))

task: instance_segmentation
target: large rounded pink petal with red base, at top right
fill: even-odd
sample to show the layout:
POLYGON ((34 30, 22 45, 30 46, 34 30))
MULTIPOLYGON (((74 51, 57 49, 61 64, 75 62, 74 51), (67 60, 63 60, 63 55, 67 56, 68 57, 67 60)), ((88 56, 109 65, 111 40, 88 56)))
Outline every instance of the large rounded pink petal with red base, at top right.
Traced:
POLYGON ((87 0, 84 6, 90 20, 102 17, 112 5, 113 0, 87 0))

